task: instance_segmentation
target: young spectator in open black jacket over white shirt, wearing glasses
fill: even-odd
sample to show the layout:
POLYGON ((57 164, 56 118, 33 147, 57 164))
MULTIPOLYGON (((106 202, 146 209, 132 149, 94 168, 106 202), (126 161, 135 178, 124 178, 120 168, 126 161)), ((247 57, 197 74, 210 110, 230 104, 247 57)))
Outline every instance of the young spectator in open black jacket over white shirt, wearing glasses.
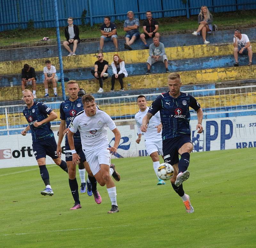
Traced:
POLYGON ((66 41, 63 42, 63 46, 68 50, 68 56, 76 55, 77 44, 80 43, 79 29, 73 24, 73 17, 68 17, 68 26, 65 28, 66 41), (73 44, 73 52, 69 45, 73 44))

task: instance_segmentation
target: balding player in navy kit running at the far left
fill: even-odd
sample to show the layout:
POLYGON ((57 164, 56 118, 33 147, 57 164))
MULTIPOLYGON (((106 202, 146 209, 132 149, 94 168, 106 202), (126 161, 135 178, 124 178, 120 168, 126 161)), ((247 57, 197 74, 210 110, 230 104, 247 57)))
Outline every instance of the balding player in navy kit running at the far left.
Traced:
POLYGON ((43 196, 52 196, 53 191, 50 185, 49 173, 45 165, 46 155, 50 156, 54 163, 59 165, 65 172, 68 172, 68 168, 66 162, 57 156, 57 144, 51 130, 50 121, 56 119, 57 114, 44 103, 34 102, 33 99, 33 93, 30 90, 24 90, 23 100, 27 107, 24 108, 23 115, 29 125, 21 131, 21 134, 25 136, 28 130, 31 130, 33 152, 45 184, 45 189, 41 191, 41 194, 43 196))

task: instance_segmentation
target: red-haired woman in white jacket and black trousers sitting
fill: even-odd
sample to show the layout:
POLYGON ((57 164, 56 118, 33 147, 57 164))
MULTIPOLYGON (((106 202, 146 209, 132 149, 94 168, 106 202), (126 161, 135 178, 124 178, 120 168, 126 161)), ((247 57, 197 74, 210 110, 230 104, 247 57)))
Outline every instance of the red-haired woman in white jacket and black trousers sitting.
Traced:
POLYGON ((110 91, 115 91, 114 86, 115 86, 116 79, 119 80, 119 83, 121 85, 120 91, 124 91, 123 78, 128 76, 128 73, 125 69, 124 61, 119 58, 118 54, 115 54, 113 56, 113 60, 114 61, 111 63, 113 75, 111 78, 111 90, 110 91))

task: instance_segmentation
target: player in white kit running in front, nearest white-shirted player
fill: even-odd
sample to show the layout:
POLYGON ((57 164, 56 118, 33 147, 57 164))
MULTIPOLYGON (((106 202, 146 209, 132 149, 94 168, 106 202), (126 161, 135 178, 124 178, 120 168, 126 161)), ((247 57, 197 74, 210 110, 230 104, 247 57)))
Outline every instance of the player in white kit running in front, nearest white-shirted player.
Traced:
POLYGON ((116 186, 110 175, 117 181, 120 180, 120 175, 116 172, 115 166, 110 164, 110 156, 116 154, 121 134, 110 116, 97 108, 92 95, 84 95, 82 103, 84 111, 79 112, 69 124, 68 143, 72 161, 77 164, 80 158, 76 153, 73 138, 73 135, 79 130, 84 155, 92 174, 101 186, 106 185, 107 187, 111 200, 111 210, 108 213, 116 213, 119 212, 116 203, 116 186), (113 147, 108 145, 107 126, 115 135, 113 147))

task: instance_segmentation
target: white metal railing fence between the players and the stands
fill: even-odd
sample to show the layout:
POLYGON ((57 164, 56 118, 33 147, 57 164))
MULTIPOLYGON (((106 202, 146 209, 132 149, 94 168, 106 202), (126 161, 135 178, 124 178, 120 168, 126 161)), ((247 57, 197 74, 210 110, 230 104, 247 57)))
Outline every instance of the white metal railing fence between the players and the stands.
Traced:
MULTIPOLYGON (((256 111, 256 85, 184 92, 196 98, 204 114, 256 111)), ((146 94, 145 96, 149 106, 159 94, 146 94)), ((137 97, 138 95, 98 98, 96 103, 114 121, 130 121, 134 119, 134 115, 139 110, 137 97)), ((50 102, 47 106, 60 116, 60 103, 50 102)), ((4 131, 4 134, 28 125, 22 114, 24 107, 25 105, 12 105, 0 108, 0 130, 4 131)), ((191 116, 193 115, 196 115, 196 112, 191 109, 191 116)), ((59 124, 59 117, 52 122, 52 126, 59 126, 59 124)))

